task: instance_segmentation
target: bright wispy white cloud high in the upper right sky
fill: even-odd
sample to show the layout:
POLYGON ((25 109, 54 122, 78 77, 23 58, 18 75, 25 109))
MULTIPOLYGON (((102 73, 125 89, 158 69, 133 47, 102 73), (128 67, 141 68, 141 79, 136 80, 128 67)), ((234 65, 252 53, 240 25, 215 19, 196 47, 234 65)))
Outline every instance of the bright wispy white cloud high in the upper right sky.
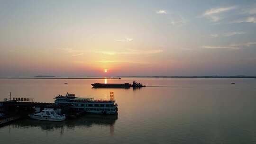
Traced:
POLYGON ((224 8, 212 8, 209 10, 206 10, 200 17, 206 17, 211 19, 211 21, 213 22, 217 22, 221 19, 221 17, 219 16, 219 14, 223 13, 223 12, 228 12, 232 9, 236 9, 236 6, 232 6, 232 7, 224 7, 224 8))

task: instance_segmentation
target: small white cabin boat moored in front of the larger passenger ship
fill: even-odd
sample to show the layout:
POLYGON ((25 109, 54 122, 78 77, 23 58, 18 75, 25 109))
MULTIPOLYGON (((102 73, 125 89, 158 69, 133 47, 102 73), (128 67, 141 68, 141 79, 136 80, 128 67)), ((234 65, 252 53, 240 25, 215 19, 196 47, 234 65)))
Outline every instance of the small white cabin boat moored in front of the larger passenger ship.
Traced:
POLYGON ((39 113, 30 114, 29 117, 37 120, 46 120, 46 121, 64 121, 65 116, 58 115, 54 109, 44 109, 39 113))

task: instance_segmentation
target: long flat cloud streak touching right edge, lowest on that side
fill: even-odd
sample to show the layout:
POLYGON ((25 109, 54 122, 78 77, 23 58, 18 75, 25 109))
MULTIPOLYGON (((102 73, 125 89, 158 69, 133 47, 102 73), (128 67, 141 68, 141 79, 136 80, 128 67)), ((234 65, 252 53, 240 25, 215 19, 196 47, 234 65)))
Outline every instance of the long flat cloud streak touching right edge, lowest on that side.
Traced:
POLYGON ((245 47, 250 47, 252 45, 256 45, 256 42, 247 42, 247 43, 241 43, 241 44, 231 44, 231 45, 204 45, 202 48, 207 49, 242 49, 245 47))

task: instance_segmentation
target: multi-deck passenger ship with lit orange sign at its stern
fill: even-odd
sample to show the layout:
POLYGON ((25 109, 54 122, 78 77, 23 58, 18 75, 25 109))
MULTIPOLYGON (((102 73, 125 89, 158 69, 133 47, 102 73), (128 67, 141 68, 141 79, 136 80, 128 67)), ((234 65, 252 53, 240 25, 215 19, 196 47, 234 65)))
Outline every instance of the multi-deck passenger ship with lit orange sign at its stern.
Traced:
POLYGON ((96 114, 117 114, 118 104, 115 103, 114 93, 110 92, 109 100, 96 100, 94 98, 75 97, 75 94, 68 93, 66 96, 58 95, 55 98, 55 105, 70 105, 70 108, 96 114))

